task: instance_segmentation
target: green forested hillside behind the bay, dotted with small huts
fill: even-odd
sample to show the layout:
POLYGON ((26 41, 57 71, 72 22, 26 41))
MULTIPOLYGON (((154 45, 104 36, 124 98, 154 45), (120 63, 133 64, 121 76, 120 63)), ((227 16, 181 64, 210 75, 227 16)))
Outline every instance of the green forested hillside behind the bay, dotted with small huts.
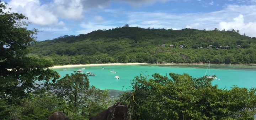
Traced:
POLYGON ((126 25, 41 41, 30 48, 30 55, 35 54, 60 65, 109 62, 256 63, 256 38, 240 35, 239 30, 165 30, 126 25), (179 48, 181 45, 183 48, 179 48))

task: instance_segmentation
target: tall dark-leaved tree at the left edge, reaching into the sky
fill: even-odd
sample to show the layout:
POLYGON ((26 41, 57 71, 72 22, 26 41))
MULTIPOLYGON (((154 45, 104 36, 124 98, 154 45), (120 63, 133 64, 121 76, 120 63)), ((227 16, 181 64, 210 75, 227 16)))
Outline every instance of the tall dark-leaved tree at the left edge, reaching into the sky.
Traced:
POLYGON ((7 4, 0 2, 0 98, 17 103, 33 92, 38 82, 44 80, 47 85, 59 76, 48 68, 53 63, 26 56, 27 47, 36 42, 33 35, 37 30, 27 30, 28 23, 23 21, 27 18, 10 10, 7 4))

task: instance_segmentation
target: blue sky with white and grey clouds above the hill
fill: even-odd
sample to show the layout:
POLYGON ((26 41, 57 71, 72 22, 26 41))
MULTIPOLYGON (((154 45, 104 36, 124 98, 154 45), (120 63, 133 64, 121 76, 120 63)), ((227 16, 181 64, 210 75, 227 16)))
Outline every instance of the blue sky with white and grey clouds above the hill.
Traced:
POLYGON ((37 40, 131 27, 240 30, 256 37, 256 0, 2 0, 28 17, 37 40))

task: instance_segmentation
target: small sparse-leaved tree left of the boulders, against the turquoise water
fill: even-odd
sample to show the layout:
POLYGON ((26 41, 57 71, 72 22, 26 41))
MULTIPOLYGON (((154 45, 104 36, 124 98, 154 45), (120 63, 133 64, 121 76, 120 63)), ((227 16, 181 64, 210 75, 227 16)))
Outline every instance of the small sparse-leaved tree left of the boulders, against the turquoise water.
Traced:
POLYGON ((84 116, 89 116, 92 114, 89 111, 93 107, 91 104, 103 108, 107 106, 108 91, 90 87, 89 79, 84 73, 66 74, 53 84, 53 92, 58 98, 68 102, 68 110, 64 110, 64 113, 69 116, 72 116, 70 113, 81 115, 80 111, 84 116))

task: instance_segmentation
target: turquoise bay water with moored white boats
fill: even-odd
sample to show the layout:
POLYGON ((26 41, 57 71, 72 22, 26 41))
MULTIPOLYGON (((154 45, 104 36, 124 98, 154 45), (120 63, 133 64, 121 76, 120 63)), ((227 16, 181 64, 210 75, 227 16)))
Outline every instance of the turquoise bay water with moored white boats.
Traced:
MULTIPOLYGON (((231 89, 233 85, 243 88, 256 87, 256 67, 255 66, 228 66, 228 65, 211 65, 207 74, 216 74, 220 80, 213 80, 212 84, 218 85, 218 88, 231 89)), ((143 74, 149 76, 154 73, 160 73, 163 76, 169 76, 170 72, 188 73, 192 77, 202 77, 206 73, 207 65, 114 65, 114 66, 91 66, 86 69, 81 67, 54 68, 61 77, 65 74, 74 73, 73 71, 82 70, 84 73, 91 72, 94 77, 89 76, 90 85, 96 88, 114 89, 114 90, 130 90, 130 80, 135 76, 143 74), (105 67, 102 70, 101 67, 105 67), (111 73, 110 71, 117 71, 111 73), (114 78, 119 76, 120 79, 114 78)))

